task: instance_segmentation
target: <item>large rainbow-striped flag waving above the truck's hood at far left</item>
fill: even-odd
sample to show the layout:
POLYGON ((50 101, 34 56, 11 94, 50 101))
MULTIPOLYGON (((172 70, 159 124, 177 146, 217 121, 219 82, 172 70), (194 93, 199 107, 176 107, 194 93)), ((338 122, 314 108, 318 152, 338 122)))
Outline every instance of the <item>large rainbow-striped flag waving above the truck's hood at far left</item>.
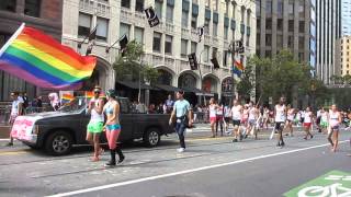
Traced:
POLYGON ((0 49, 0 69, 41 88, 75 90, 90 78, 97 58, 80 56, 24 24, 0 49))

